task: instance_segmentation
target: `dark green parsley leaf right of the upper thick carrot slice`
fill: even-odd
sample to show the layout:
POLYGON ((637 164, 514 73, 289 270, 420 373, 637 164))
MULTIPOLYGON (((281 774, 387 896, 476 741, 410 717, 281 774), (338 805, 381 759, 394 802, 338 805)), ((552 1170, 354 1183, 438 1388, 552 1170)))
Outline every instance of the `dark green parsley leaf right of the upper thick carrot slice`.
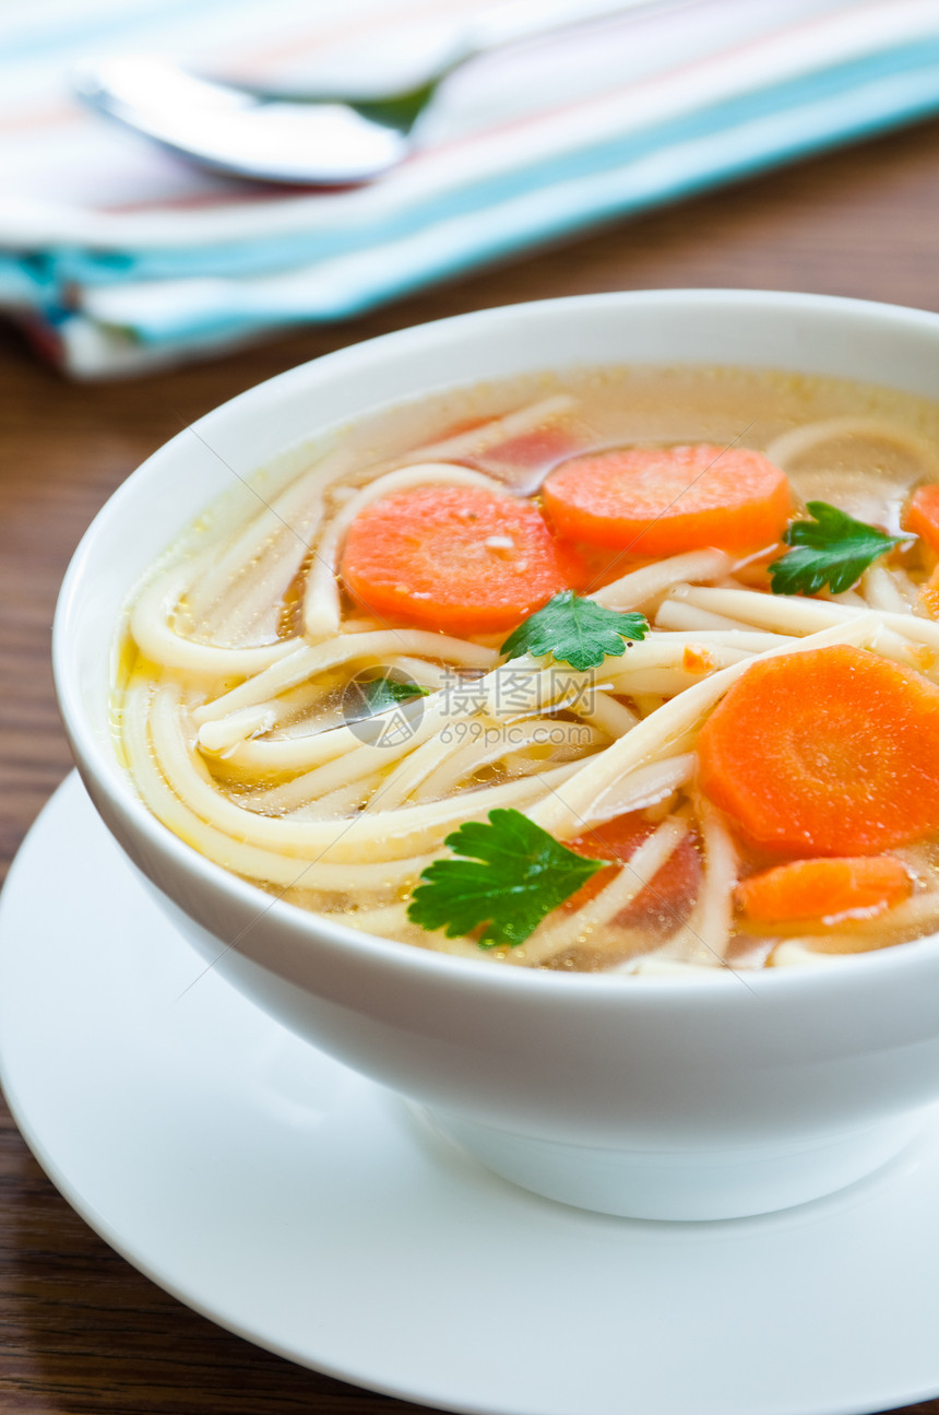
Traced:
POLYGON ((878 556, 909 539, 885 535, 826 501, 809 501, 806 509, 812 521, 791 521, 782 538, 796 549, 769 566, 774 594, 817 594, 826 584, 841 594, 878 556))

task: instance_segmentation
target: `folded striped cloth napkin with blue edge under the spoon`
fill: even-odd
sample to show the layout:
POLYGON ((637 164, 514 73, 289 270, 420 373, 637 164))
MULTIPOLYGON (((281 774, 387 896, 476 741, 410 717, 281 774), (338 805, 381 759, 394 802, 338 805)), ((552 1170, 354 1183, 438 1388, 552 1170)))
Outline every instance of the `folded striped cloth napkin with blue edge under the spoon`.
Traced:
POLYGON ((0 0, 0 308, 69 374, 208 357, 939 110, 939 0, 646 4, 454 74, 413 154, 342 190, 209 175, 71 99, 171 54, 342 82, 479 0, 0 0))

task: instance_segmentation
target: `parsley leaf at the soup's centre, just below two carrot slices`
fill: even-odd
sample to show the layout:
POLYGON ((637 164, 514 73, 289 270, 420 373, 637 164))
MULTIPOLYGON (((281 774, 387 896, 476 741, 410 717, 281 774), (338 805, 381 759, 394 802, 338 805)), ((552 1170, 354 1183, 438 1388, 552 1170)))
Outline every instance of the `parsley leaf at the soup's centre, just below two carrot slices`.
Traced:
POLYGON ((645 638, 648 633, 645 614, 622 614, 595 600, 581 599, 573 590, 561 590, 544 608, 519 624, 499 652, 508 658, 552 654, 571 668, 598 668, 607 655, 618 658, 625 654, 624 640, 645 638))

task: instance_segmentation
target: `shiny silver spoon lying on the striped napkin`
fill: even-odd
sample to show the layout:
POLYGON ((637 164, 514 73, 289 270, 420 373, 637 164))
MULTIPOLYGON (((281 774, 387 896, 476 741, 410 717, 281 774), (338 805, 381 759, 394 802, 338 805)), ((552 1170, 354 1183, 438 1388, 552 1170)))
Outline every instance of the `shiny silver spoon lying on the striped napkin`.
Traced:
POLYGON ((629 10, 694 0, 513 0, 424 57, 424 72, 366 96, 252 91, 197 78, 170 59, 113 55, 74 75, 75 95, 107 117, 214 171, 345 187, 373 181, 416 146, 417 120, 460 65, 502 45, 629 10))

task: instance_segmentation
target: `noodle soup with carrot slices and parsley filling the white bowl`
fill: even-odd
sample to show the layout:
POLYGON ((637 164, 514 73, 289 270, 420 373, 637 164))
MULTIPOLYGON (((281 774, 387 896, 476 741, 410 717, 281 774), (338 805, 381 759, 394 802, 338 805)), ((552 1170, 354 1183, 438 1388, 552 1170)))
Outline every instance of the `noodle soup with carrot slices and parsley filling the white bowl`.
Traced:
POLYGON ((939 921, 938 483, 939 409, 836 379, 383 410, 167 552, 120 750, 209 859, 421 948, 689 975, 899 944, 939 921))

